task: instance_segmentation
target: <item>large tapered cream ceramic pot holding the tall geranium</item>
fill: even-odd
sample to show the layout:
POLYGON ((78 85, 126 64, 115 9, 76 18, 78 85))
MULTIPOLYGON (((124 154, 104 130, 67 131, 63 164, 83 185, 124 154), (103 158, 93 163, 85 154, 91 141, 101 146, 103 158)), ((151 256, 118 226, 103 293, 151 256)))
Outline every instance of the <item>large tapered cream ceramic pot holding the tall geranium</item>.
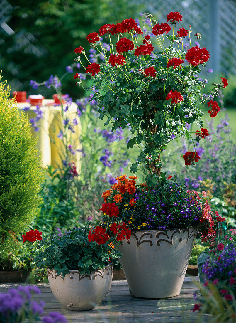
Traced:
POLYGON ((130 293, 166 298, 180 294, 197 228, 133 232, 118 249, 130 293))

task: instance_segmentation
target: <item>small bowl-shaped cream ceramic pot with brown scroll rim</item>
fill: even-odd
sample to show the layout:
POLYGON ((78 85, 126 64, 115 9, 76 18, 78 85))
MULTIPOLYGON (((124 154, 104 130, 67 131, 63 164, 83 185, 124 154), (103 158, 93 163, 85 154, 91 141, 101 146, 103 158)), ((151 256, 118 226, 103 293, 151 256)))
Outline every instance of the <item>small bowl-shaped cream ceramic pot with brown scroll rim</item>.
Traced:
POLYGON ((85 311, 98 306, 106 297, 112 285, 113 265, 84 275, 71 270, 64 278, 49 268, 47 274, 53 295, 64 307, 85 311))

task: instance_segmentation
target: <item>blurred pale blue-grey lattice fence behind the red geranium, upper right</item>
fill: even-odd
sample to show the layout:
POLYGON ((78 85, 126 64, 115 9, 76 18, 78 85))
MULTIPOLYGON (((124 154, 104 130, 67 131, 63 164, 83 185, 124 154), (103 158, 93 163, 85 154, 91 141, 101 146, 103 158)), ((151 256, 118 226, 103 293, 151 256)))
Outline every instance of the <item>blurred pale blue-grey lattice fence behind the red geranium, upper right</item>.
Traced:
POLYGON ((207 68, 226 76, 236 74, 236 1, 235 0, 136 0, 159 22, 166 21, 171 11, 180 12, 182 22, 177 28, 202 35, 201 47, 211 53, 207 68))

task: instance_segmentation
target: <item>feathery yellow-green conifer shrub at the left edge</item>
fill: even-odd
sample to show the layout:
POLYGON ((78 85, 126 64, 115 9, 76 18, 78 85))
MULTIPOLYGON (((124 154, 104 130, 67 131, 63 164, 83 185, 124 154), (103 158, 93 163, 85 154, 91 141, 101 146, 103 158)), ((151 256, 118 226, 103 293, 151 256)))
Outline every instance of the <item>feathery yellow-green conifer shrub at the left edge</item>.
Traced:
POLYGON ((44 179, 37 139, 25 113, 9 99, 10 88, 0 75, 0 240, 22 234, 41 203, 38 194, 44 179))

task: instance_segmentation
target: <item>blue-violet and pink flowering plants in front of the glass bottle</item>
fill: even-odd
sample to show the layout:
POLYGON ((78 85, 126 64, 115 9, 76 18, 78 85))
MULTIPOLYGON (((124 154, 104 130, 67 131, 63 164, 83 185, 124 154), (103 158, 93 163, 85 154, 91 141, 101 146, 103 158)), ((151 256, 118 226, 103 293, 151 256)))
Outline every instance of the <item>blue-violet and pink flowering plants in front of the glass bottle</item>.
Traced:
POLYGON ((209 251, 209 257, 202 266, 205 283, 202 295, 195 293, 195 310, 218 315, 221 322, 235 322, 236 319, 236 230, 231 229, 225 241, 209 251), (217 298, 214 308, 213 297, 217 298), (226 315, 228 319, 221 318, 226 315))

